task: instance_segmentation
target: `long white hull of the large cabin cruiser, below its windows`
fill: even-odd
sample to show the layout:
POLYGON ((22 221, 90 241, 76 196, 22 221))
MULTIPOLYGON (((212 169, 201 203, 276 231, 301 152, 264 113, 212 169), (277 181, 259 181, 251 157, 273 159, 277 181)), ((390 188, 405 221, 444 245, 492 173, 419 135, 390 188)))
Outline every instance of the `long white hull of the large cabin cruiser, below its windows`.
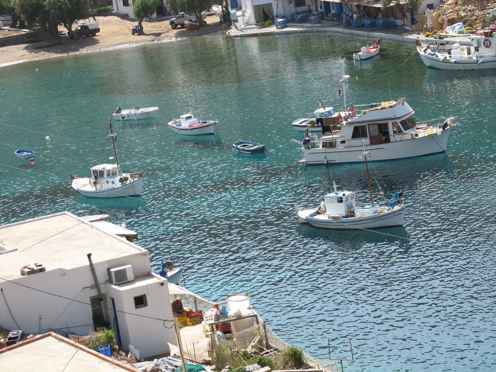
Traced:
POLYGON ((371 152, 372 156, 368 160, 372 162, 441 154, 446 151, 451 129, 452 127, 439 129, 433 134, 421 137, 415 137, 412 133, 411 139, 379 145, 303 149, 304 158, 300 162, 307 165, 362 163, 363 160, 359 156, 364 149, 371 152))

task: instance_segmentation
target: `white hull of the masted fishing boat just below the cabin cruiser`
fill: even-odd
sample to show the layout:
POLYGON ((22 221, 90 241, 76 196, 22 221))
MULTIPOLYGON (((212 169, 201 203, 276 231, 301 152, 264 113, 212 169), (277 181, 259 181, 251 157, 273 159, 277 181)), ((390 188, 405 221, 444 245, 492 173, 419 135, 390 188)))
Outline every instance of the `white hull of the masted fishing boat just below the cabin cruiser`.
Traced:
POLYGON ((396 207, 393 210, 364 217, 333 218, 333 216, 319 214, 316 209, 298 211, 300 223, 309 223, 311 226, 324 229, 376 229, 381 227, 403 226, 405 209, 396 207))

